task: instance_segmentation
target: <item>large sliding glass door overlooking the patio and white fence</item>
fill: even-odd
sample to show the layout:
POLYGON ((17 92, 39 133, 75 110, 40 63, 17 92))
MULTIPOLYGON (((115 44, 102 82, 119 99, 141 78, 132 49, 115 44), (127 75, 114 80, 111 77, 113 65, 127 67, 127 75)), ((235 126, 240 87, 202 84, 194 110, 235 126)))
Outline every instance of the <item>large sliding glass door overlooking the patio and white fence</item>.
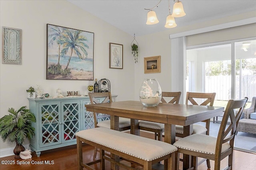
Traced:
MULTIPOLYGON (((256 39, 187 47, 186 91, 216 92, 214 106, 222 107, 248 97, 250 107, 256 96, 256 39)), ((210 135, 218 135, 219 125, 211 123, 210 135)), ((238 132, 234 147, 256 152, 255 140, 256 134, 238 132)))

